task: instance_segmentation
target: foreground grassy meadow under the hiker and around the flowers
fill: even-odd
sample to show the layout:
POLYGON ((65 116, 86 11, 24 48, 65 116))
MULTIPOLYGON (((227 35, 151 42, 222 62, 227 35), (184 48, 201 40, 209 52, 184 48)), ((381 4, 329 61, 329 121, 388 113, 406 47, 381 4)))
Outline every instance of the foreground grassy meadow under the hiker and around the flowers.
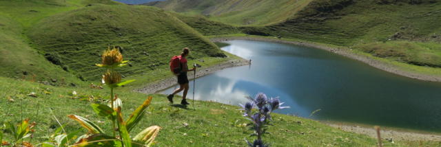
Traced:
MULTIPOLYGON (((107 99, 108 91, 109 89, 85 87, 66 89, 0 77, 0 111, 5 112, 0 113, 1 121, 19 122, 21 116, 30 118, 31 121, 38 123, 33 142, 42 142, 44 140, 42 137, 52 133, 58 126, 50 113, 49 108, 52 108, 54 115, 61 124, 66 125, 65 129, 68 132, 79 129, 85 132, 76 122, 66 117, 69 114, 85 116, 102 126, 105 132, 110 132, 111 123, 95 115, 89 106, 90 102, 81 100, 81 98, 95 98, 95 102, 102 102, 107 99), (44 91, 50 94, 45 94, 44 91), (72 91, 76 91, 80 98, 72 97, 70 94, 72 91), (31 92, 37 93, 37 98, 27 96, 31 92), (14 102, 9 102, 6 98, 12 98, 14 102), (21 115, 21 106, 23 106, 23 115, 21 115), (99 121, 105 123, 99 123, 99 121)), ((125 117, 147 98, 147 95, 141 93, 118 89, 116 93, 123 100, 125 117)), ((179 105, 167 104, 164 95, 153 95, 153 97, 152 104, 147 109, 148 114, 132 131, 132 135, 147 126, 161 126, 163 130, 156 138, 157 146, 245 146, 243 139, 245 137, 252 139, 249 137, 251 131, 244 126, 239 126, 239 124, 247 123, 247 120, 241 116, 238 106, 196 102, 196 111, 194 111, 179 105), (188 126, 183 126, 183 123, 187 123, 188 126)), ((376 144, 376 139, 346 133, 316 121, 279 114, 274 114, 273 118, 274 126, 269 127, 271 135, 264 137, 265 141, 273 146, 375 146, 376 144)), ((11 139, 8 133, 6 133, 6 139, 11 139)), ((384 142, 384 144, 386 146, 419 146, 420 143, 384 142)), ((433 146, 436 143, 422 142, 422 145, 433 146)))

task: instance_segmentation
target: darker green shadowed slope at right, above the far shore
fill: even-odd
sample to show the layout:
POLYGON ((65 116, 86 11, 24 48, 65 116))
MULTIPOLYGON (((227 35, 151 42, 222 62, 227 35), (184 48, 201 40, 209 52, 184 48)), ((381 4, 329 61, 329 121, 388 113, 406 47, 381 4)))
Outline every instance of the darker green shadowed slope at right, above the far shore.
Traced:
POLYGON ((315 0, 263 31, 353 47, 412 65, 441 67, 441 2, 315 0))

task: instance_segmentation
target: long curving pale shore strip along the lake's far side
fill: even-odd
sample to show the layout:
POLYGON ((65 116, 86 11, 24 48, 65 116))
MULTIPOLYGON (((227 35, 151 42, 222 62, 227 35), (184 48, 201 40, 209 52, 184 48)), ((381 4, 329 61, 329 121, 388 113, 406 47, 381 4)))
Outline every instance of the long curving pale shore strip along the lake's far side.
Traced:
POLYGON ((308 42, 302 42, 302 41, 285 41, 278 38, 261 38, 261 37, 252 37, 252 36, 227 36, 227 37, 214 37, 210 38, 213 42, 222 42, 222 41, 232 41, 232 40, 247 40, 247 41, 269 41, 274 43, 287 43, 287 44, 293 44, 293 45, 300 45, 304 47, 313 47, 317 49, 324 49, 329 52, 333 52, 335 54, 339 54, 341 56, 346 56, 348 58, 352 58, 354 60, 359 60, 363 63, 366 63, 367 65, 370 65, 371 67, 376 67, 377 69, 381 69, 383 71, 388 71, 393 74, 397 74, 400 76, 405 76, 408 78, 414 78, 418 80, 424 80, 424 81, 431 81, 431 82, 441 82, 440 76, 430 76, 426 74, 418 74, 411 71, 404 71, 402 69, 399 69, 395 65, 391 65, 389 63, 384 63, 380 60, 376 60, 373 58, 369 58, 368 56, 362 56, 358 54, 354 54, 351 52, 351 49, 345 49, 342 47, 328 47, 326 45, 319 45, 315 43, 308 43, 308 42))

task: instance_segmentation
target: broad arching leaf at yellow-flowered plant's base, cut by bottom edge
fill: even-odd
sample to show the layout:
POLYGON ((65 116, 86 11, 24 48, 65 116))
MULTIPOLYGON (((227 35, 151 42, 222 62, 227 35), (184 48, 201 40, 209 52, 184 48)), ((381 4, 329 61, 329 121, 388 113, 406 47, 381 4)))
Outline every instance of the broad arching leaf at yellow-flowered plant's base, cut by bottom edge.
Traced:
POLYGON ((94 134, 83 139, 80 139, 79 142, 76 142, 74 147, 121 147, 121 140, 116 139, 114 137, 107 136, 105 134, 94 134))

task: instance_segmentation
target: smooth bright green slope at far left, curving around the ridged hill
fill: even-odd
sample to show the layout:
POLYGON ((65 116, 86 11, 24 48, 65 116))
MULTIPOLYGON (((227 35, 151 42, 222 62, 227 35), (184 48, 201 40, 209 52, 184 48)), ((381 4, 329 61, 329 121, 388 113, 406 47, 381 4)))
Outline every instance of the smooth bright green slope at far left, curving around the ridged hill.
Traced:
POLYGON ((25 35, 33 25, 47 16, 74 10, 89 3, 119 4, 114 1, 61 0, 0 1, 0 74, 54 85, 81 84, 74 75, 52 65, 33 49, 25 35), (23 74, 24 73, 24 74, 23 74), (57 82, 52 82, 57 80, 57 82))

